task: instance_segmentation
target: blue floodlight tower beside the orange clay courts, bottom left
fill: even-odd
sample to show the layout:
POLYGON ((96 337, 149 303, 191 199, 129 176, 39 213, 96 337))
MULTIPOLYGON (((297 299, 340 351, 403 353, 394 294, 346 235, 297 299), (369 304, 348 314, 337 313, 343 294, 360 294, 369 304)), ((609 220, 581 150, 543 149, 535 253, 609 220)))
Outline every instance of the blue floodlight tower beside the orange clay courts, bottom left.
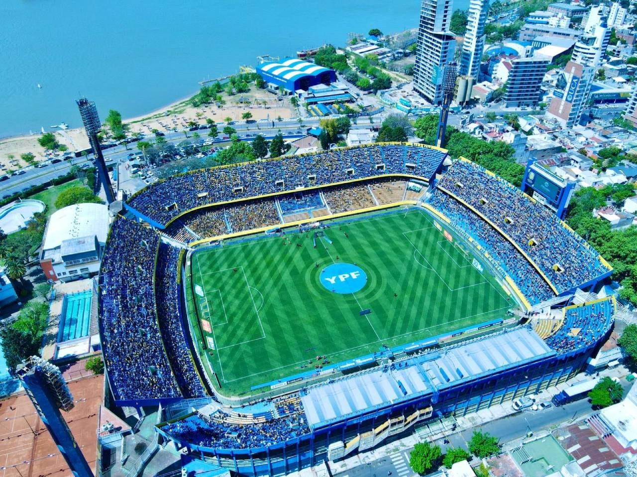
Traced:
POLYGON ((61 409, 69 411, 74 406, 73 396, 62 378, 60 369, 46 359, 31 356, 18 366, 17 374, 73 475, 93 477, 82 450, 60 413, 61 409))

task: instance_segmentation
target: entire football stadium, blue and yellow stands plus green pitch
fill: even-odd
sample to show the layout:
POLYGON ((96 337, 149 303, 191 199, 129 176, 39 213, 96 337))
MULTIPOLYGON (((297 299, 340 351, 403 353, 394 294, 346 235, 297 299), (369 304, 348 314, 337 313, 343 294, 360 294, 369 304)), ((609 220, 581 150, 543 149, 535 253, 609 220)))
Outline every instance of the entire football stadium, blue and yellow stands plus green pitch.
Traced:
POLYGON ((284 474, 568 380, 610 333, 614 299, 582 296, 611 273, 543 205, 433 146, 190 171, 111 225, 108 385, 120 406, 161 404, 155 430, 183 452, 284 474))

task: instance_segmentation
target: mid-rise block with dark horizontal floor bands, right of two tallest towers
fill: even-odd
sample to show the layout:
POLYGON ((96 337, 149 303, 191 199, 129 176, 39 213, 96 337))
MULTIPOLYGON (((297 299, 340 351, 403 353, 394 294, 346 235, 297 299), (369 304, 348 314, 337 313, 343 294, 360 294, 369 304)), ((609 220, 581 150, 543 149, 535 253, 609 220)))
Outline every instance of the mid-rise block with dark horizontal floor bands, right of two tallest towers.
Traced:
POLYGON ((508 74, 506 107, 536 106, 540 100, 540 84, 547 72, 547 57, 516 58, 508 74))

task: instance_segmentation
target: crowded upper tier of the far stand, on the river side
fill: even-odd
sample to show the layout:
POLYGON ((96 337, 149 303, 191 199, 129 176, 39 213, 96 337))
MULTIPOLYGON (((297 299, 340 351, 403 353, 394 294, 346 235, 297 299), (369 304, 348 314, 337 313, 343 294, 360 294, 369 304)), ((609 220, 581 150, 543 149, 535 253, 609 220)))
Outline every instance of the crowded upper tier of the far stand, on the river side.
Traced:
POLYGON ((128 204, 161 224, 183 212, 227 200, 363 177, 412 174, 429 181, 446 153, 430 146, 372 144, 266 161, 194 170, 159 181, 128 204), (407 154, 410 160, 407 162, 407 154), (380 161, 380 162, 379 162, 380 161))

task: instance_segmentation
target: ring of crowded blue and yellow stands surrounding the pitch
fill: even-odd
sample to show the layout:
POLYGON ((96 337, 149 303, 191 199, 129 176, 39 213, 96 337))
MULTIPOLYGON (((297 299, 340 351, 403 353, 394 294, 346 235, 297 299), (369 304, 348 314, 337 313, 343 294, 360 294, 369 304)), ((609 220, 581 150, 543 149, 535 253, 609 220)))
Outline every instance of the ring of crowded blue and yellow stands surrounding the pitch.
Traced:
POLYGON ((185 250, 211 240, 401 205, 424 208, 462 233, 501 272, 523 312, 610 275, 597 252, 542 205, 474 163, 445 167, 445 160, 439 148, 372 144, 197 170, 140 191, 111 226, 99 284, 101 339, 116 402, 210 396, 206 411, 159 425, 158 432, 224 466, 263 474, 280 465, 273 462, 300 468, 338 442, 344 455, 432 413, 466 413, 569 378, 608 334, 612 299, 573 303, 561 319, 533 327, 428 343, 414 353, 403 349, 390 366, 331 374, 329 382, 300 391, 280 388, 278 396, 257 397, 258 405, 229 405, 205 375, 183 316, 181 275, 185 250), (497 373, 509 377, 502 388, 489 380, 497 373), (286 451, 292 444, 296 452, 286 451), (311 447, 310 457, 299 451, 302 445, 311 447), (275 449, 282 458, 254 455, 275 449))

